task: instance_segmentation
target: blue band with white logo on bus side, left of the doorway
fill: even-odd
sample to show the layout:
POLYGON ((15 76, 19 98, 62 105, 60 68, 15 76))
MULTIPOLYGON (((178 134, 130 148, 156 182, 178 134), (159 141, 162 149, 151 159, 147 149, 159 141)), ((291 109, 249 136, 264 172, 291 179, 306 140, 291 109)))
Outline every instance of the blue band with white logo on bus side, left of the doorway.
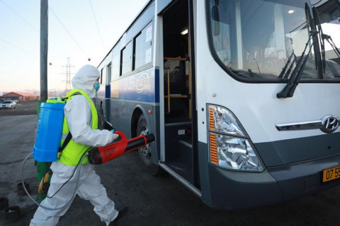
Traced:
POLYGON ((112 95, 115 100, 159 102, 159 69, 142 71, 117 82, 118 86, 111 87, 112 92, 118 94, 118 97, 112 95))

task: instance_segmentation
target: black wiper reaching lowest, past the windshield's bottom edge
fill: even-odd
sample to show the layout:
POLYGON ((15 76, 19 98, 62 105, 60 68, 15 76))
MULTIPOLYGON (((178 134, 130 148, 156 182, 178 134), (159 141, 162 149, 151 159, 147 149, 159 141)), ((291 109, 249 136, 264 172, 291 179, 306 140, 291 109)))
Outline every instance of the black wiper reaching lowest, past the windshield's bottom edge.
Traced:
POLYGON ((300 57, 299 61, 297 61, 295 69, 293 70, 292 74, 290 75, 290 78, 288 80, 287 85, 285 85, 285 87, 283 88, 283 90, 281 90, 280 93, 276 94, 276 97, 278 97, 278 98, 293 97, 295 88, 299 84, 300 78, 302 76, 302 71, 303 71, 303 69, 305 69, 308 56, 310 55, 310 51, 312 50, 312 47, 314 45, 314 41, 310 45, 310 50, 308 51, 308 54, 305 57, 303 62, 302 62, 302 58, 305 56, 305 52, 306 52, 306 49, 308 47, 308 44, 310 43, 310 40, 314 40, 315 35, 317 35, 317 31, 316 30, 310 30, 310 35, 308 36, 308 41, 306 42, 305 49, 303 49, 301 57, 300 57), (301 62, 302 62, 302 64, 301 64, 301 62))

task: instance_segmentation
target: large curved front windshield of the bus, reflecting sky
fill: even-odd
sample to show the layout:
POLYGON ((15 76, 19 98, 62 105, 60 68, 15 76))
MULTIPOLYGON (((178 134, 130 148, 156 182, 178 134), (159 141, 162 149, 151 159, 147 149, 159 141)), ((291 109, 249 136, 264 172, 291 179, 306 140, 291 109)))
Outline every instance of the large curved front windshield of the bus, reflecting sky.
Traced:
POLYGON ((302 58, 300 81, 340 81, 338 0, 208 3, 210 49, 235 78, 287 81, 302 58))

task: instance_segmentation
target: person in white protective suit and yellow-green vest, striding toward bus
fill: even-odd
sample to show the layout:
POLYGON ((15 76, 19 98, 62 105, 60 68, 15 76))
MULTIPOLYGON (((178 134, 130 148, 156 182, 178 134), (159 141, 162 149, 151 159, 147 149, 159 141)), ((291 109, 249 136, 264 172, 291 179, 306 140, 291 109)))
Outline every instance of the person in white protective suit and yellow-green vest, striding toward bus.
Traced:
MULTIPOLYGON (((74 90, 67 95, 67 103, 64 106, 62 142, 66 140, 68 133, 72 134, 72 139, 62 150, 60 159, 52 162, 50 169, 53 174, 47 198, 40 203, 30 226, 57 225, 71 203, 60 210, 52 209, 60 208, 73 199, 76 186, 79 197, 94 205, 94 212, 99 215, 101 221, 110 225, 110 222, 118 220, 115 203, 108 198, 100 177, 94 171, 94 165, 89 164, 87 157, 84 157, 80 164, 81 157, 88 148, 107 145, 118 138, 118 135, 111 131, 97 129, 98 114, 91 98, 99 88, 98 78, 98 69, 86 65, 81 67, 72 79, 74 90), (72 177, 78 164, 81 165, 80 172, 77 168, 72 177)), ((120 211, 120 217, 124 212, 125 209, 120 211)))

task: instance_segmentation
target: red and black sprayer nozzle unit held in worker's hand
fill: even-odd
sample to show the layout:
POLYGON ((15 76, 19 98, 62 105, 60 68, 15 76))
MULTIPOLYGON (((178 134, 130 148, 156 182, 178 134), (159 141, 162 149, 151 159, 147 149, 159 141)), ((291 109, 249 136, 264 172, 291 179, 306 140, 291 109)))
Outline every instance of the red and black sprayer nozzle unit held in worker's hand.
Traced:
POLYGON ((120 131, 115 131, 115 133, 120 136, 120 141, 89 150, 88 158, 91 164, 103 164, 119 157, 120 155, 129 153, 132 150, 142 148, 148 143, 154 141, 154 134, 152 133, 145 136, 140 135, 135 138, 131 138, 130 140, 127 140, 125 134, 120 131))

